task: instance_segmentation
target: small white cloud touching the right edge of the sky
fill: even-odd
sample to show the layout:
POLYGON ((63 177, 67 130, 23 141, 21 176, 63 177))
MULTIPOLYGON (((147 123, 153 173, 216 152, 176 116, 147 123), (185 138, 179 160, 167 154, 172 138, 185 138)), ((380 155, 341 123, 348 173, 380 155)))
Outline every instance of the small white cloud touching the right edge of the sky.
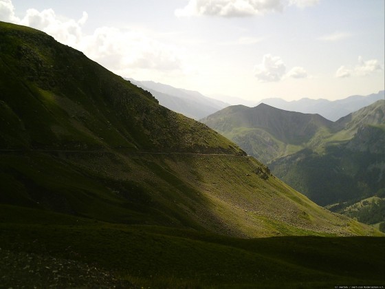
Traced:
POLYGON ((336 77, 347 78, 349 76, 367 76, 375 72, 382 72, 383 70, 383 66, 377 59, 364 61, 362 56, 358 56, 358 65, 355 65, 354 67, 347 67, 342 65, 340 68, 337 69, 336 77))

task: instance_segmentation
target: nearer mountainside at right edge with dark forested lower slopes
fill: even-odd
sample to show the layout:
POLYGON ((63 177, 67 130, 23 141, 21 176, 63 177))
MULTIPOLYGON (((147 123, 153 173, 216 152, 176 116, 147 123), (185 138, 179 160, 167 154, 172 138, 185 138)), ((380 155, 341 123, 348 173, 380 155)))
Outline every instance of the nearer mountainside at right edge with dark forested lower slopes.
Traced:
POLYGON ((270 168, 323 206, 371 197, 385 187, 384 123, 385 100, 378 100, 335 122, 340 130, 325 140, 323 153, 298 151, 270 168))

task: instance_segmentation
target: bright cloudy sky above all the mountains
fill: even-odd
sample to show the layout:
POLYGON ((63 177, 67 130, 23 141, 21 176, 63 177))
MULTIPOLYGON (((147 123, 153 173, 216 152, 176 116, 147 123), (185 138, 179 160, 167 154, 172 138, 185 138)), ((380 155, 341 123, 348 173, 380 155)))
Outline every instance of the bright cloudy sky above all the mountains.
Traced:
POLYGON ((0 0, 115 74, 258 102, 384 90, 384 0, 0 0))

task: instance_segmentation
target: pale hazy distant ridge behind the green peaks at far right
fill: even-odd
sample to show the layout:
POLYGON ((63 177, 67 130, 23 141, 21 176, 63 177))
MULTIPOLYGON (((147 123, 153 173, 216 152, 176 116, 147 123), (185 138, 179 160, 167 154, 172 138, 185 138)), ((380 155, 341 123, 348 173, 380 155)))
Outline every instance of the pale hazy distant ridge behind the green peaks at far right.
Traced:
POLYGON ((310 99, 301 98, 300 100, 286 101, 281 98, 266 98, 259 103, 265 103, 278 109, 288 111, 298 111, 304 114, 320 114, 328 120, 336 121, 342 116, 347 116, 353 111, 375 103, 377 100, 384 99, 384 90, 369 96, 349 96, 340 100, 310 99))

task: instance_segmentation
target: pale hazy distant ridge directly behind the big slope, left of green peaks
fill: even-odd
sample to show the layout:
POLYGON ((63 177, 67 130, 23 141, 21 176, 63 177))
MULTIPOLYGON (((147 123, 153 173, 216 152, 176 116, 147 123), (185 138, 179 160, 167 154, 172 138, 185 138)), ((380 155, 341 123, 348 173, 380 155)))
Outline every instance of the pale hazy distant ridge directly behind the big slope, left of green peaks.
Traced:
POLYGON ((133 78, 126 79, 151 92, 159 100, 160 105, 195 120, 204 118, 215 111, 229 106, 228 103, 203 96, 203 94, 192 90, 175 88, 153 81, 135 81, 133 78))

